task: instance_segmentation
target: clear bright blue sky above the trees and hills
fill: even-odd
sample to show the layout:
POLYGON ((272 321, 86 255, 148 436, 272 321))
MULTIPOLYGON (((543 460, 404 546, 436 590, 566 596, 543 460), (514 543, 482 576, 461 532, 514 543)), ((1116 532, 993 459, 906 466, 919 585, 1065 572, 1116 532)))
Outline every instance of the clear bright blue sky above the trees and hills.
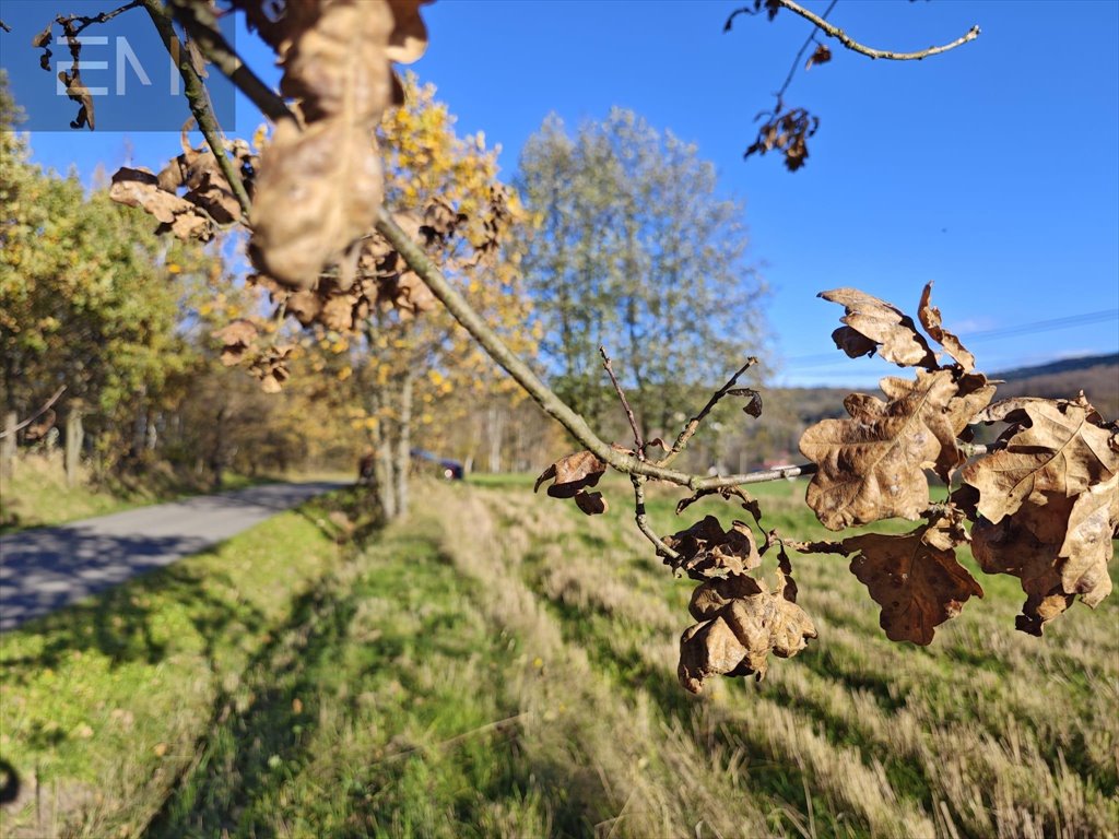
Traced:
MULTIPOLYGON (((552 111, 575 124, 621 105, 697 143, 745 202, 786 384, 866 386, 896 371, 834 349, 843 310, 815 294, 841 285, 914 312, 935 281, 946 327, 965 343, 977 333, 980 369, 1119 350, 1119 3, 840 0, 830 19, 875 47, 920 49, 974 23, 982 35, 920 63, 831 41, 834 60, 798 72, 786 97, 821 119, 797 173, 742 152, 809 25, 783 11, 724 34, 737 4, 443 0, 424 10, 431 47, 414 69, 460 131, 501 144, 509 177, 552 111)), ((244 34, 238 45, 275 78, 265 49, 244 34)), ((237 130, 257 122, 242 103, 237 130)), ((31 144, 84 178, 130 152, 158 168, 177 150, 159 133, 44 132, 31 144)))

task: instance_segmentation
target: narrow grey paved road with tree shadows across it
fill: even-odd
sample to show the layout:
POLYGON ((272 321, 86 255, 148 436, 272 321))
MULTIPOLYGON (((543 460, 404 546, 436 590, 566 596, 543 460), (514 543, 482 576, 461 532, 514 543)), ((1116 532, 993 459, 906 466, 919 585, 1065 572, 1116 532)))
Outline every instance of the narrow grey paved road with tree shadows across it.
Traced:
POLYGON ((0 632, 344 486, 270 483, 0 536, 0 632))

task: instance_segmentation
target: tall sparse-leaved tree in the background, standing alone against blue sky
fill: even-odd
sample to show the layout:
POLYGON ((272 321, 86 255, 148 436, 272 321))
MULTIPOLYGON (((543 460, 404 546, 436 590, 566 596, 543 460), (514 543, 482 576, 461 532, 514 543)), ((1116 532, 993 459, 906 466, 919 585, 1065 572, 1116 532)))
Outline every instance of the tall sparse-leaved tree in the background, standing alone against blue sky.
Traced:
POLYGON ((525 276, 561 396, 592 422, 615 411, 598 347, 618 357, 648 439, 699 386, 762 343, 764 286, 741 204, 696 147, 613 109, 570 134, 553 115, 525 145, 518 187, 540 232, 525 276))

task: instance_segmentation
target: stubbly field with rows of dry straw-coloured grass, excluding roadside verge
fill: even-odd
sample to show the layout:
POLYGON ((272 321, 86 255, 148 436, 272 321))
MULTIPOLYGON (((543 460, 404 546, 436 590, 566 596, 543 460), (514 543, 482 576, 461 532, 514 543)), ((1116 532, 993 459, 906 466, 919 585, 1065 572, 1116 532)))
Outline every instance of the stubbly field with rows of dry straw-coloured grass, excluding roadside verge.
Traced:
MULTIPOLYGON (((801 491, 761 490, 767 524, 817 535, 801 491)), ((624 510, 585 519, 524 487, 416 497, 226 672, 235 701, 148 835, 1117 835, 1115 602, 1040 641, 1013 630, 1014 581, 985 577, 987 600, 921 649, 884 638, 845 562, 806 558, 819 640, 696 698, 675 677, 690 587, 624 510)), ((667 500, 651 507, 670 529, 667 500)), ((72 794, 100 824, 150 795, 134 772, 111 789, 72 794)))

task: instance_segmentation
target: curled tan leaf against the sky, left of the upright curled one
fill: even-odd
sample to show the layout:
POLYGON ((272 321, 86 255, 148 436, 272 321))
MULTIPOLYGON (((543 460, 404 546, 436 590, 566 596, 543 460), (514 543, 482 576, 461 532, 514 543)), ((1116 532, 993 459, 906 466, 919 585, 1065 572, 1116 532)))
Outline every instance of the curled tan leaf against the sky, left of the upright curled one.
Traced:
MULTIPOLYGON (((820 292, 817 296, 843 305, 847 313, 840 320, 867 341, 873 341, 878 355, 887 361, 902 367, 935 369, 937 357, 916 331, 916 324, 890 303, 857 289, 835 289, 820 292)), ((831 338, 836 347, 850 358, 867 355, 866 342, 857 340, 843 328, 836 330, 831 338)))

